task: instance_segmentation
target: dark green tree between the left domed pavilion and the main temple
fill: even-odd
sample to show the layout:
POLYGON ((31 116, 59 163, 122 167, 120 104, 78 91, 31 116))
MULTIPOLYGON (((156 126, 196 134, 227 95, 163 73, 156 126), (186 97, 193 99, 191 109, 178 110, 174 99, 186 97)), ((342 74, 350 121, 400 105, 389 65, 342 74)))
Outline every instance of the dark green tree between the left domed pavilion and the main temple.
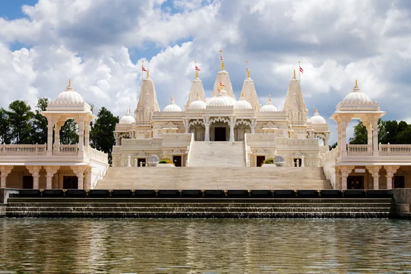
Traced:
POLYGON ((109 162, 112 159, 116 123, 119 123, 119 117, 113 116, 110 110, 103 107, 97 114, 97 120, 90 131, 91 147, 108 153, 109 162))

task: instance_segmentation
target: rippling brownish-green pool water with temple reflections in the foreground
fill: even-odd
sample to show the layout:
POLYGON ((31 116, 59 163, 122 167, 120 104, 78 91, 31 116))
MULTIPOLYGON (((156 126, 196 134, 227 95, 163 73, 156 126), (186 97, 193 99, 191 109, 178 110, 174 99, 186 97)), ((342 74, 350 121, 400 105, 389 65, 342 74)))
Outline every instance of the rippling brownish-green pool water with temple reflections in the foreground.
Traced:
POLYGON ((389 219, 0 219, 0 273, 404 273, 411 269, 410 225, 389 219))

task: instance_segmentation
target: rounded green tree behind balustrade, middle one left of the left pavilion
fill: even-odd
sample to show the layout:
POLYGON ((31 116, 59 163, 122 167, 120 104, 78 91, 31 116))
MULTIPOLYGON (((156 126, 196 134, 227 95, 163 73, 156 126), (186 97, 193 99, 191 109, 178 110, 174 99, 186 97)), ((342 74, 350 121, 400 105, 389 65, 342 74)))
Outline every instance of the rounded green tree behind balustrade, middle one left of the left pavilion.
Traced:
POLYGON ((30 105, 21 100, 10 103, 6 111, 11 128, 11 140, 14 144, 32 144, 32 118, 34 113, 30 105))

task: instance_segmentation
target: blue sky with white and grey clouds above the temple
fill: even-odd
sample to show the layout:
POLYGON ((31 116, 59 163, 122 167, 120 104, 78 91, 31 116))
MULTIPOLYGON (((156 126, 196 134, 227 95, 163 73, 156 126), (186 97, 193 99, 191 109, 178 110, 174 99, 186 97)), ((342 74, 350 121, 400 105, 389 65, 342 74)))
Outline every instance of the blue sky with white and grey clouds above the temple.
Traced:
POLYGON ((86 101, 123 115, 144 60, 160 108, 170 95, 183 108, 194 60, 210 97, 219 49, 236 97, 248 60, 260 103, 271 94, 282 109, 301 61, 310 116, 315 106, 328 119, 358 79, 384 119, 411 123, 409 0, 0 1, 0 107, 55 99, 71 78, 86 101))

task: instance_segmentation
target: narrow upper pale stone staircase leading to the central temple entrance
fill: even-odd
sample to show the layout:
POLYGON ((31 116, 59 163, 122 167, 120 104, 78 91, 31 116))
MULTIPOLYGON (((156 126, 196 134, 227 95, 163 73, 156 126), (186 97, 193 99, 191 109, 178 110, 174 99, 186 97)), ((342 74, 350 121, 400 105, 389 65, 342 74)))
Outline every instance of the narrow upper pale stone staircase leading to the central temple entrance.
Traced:
POLYGON ((245 166, 244 142, 193 142, 190 166, 245 166))

